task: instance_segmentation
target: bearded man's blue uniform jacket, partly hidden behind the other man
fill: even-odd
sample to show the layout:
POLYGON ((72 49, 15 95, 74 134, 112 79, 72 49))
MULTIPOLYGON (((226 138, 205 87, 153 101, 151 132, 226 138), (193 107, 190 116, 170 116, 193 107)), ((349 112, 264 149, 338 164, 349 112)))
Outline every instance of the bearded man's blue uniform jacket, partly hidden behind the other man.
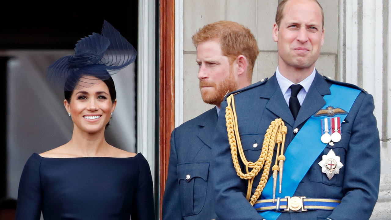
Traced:
POLYGON ((217 219, 210 180, 216 123, 217 110, 212 108, 172 131, 163 220, 217 219))

